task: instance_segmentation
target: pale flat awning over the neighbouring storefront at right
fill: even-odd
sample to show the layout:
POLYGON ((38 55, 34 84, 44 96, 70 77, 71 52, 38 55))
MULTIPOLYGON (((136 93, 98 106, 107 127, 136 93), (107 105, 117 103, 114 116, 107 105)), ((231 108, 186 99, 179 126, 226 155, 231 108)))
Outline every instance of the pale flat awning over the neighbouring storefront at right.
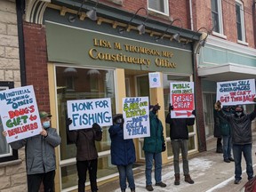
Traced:
POLYGON ((198 76, 215 82, 256 78, 255 67, 230 63, 214 67, 202 67, 197 70, 198 76))

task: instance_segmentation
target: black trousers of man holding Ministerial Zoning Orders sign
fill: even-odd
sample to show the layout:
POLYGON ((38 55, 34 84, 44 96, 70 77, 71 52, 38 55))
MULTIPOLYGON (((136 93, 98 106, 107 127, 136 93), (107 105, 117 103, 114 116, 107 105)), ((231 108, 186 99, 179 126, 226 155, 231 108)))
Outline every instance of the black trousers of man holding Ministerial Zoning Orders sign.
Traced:
POLYGON ((52 172, 28 175, 28 192, 39 191, 42 181, 44 184, 44 192, 54 192, 54 177, 55 170, 52 172))

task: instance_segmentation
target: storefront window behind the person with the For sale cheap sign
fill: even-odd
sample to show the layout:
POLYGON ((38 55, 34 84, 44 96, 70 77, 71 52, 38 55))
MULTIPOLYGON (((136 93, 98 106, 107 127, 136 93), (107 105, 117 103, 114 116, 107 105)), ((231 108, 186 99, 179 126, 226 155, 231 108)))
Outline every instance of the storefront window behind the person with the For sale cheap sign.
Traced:
MULTIPOLYGON (((173 76, 169 74, 163 75, 163 84, 164 84, 164 114, 167 116, 169 103, 170 103, 170 83, 171 82, 189 82, 190 76, 173 76)), ((170 138, 170 125, 165 124, 166 127, 166 141, 167 141, 167 155, 168 158, 172 156, 172 145, 170 138)), ((189 139, 188 139, 188 150, 196 149, 196 131, 195 125, 188 127, 189 139)))

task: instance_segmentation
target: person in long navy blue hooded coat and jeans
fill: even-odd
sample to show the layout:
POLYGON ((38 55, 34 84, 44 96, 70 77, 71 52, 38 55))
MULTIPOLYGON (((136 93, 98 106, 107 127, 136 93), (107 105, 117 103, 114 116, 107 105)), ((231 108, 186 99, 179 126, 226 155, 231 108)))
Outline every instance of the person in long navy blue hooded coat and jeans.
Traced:
POLYGON ((133 140, 124 140, 124 118, 122 114, 113 116, 113 125, 108 130, 111 139, 111 163, 117 166, 121 191, 126 189, 126 179, 131 192, 135 192, 132 165, 136 161, 133 140))

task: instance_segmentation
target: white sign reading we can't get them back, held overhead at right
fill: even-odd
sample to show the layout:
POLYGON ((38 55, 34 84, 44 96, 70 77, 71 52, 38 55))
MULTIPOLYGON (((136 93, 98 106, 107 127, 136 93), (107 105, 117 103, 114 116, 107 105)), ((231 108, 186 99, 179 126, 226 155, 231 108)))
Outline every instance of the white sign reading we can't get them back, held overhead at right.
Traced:
POLYGON ((245 79, 217 83, 217 97, 222 106, 254 104, 255 80, 245 79))

